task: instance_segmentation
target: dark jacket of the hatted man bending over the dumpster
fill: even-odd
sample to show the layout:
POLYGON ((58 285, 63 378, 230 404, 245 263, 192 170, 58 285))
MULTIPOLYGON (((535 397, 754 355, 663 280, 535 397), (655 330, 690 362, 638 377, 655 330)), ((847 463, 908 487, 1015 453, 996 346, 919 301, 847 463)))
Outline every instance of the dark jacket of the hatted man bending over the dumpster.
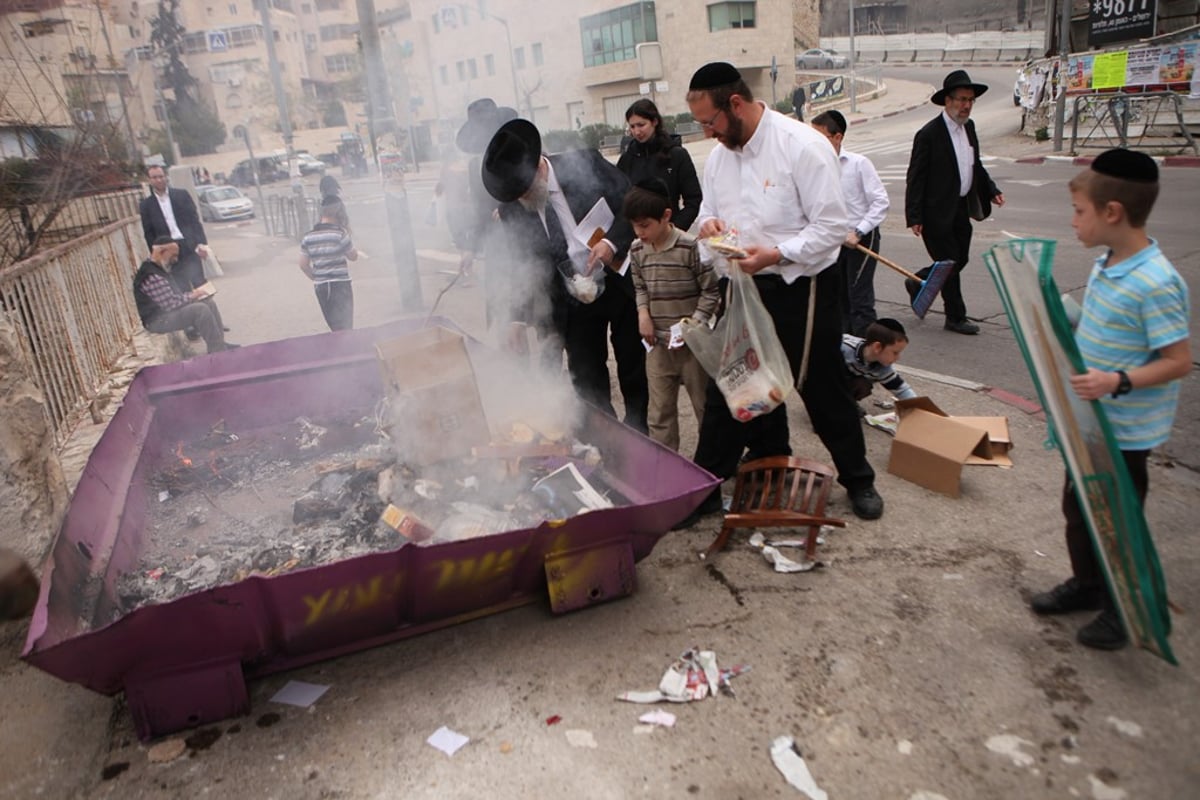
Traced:
MULTIPOLYGON (((612 210, 613 223, 605 237, 617 251, 613 255, 613 267, 619 267, 634 241, 634 228, 620 213, 625 193, 629 191, 629 179, 595 150, 569 150, 548 158, 575 217, 568 221, 569 227, 582 219, 600 198, 604 198, 612 210)), ((499 215, 509 242, 512 269, 523 270, 522 275, 514 275, 514 279, 509 282, 514 294, 508 297, 508 305, 514 321, 532 325, 551 321, 538 319, 539 314, 535 312, 535 307, 541 305, 535 302, 536 300, 548 300, 554 314, 553 321, 556 325, 559 324, 566 306, 575 302, 558 277, 558 264, 568 257, 565 249, 560 252, 556 249, 546 234, 546 228, 541 224, 541 217, 521 203, 500 204, 499 215)), ((632 302, 630 281, 613 272, 606 273, 605 277, 606 290, 618 288, 626 291, 632 302)))

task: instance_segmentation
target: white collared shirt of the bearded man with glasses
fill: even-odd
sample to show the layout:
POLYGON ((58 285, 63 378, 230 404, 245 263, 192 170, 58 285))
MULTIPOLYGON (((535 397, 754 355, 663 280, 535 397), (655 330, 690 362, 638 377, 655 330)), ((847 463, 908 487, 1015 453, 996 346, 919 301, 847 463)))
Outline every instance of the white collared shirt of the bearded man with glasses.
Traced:
POLYGON ((713 149, 703 188, 697 223, 722 219, 743 246, 778 247, 792 261, 763 275, 792 283, 838 260, 850 230, 841 170, 829 142, 808 125, 763 108, 745 146, 713 149))

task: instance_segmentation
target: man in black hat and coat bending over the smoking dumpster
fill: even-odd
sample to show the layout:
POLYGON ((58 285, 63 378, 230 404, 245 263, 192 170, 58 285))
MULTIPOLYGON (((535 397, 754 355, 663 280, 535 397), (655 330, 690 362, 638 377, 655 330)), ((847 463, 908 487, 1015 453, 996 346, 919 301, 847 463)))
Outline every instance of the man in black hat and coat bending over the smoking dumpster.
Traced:
POLYGON ((608 381, 608 338, 617 357, 617 380, 625 425, 647 432, 649 389, 646 350, 637 332, 632 277, 619 273, 634 229, 620 213, 629 179, 595 150, 544 155, 532 122, 511 120, 496 132, 484 154, 484 188, 499 201, 509 270, 509 342, 522 350, 527 329, 538 333, 541 362, 562 368, 562 349, 580 396, 614 414, 608 381), (583 242, 576 228, 604 204, 612 222, 583 242), (568 293, 565 275, 580 267, 601 271, 604 290, 592 302, 568 293))

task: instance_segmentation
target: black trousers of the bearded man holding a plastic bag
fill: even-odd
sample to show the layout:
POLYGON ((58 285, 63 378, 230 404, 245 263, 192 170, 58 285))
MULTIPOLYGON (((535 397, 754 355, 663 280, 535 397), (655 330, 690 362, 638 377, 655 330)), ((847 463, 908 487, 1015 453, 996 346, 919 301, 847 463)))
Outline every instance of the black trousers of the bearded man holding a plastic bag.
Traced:
MULTIPOLYGON (((872 486, 875 470, 866 461, 863 425, 841 357, 841 282, 836 270, 826 269, 815 278, 798 278, 791 284, 778 275, 756 276, 754 282, 775 323, 793 380, 800 373, 810 288, 817 293, 809 373, 800 399, 814 431, 833 457, 838 482, 850 491, 872 486)), ((749 422, 739 422, 730 414, 716 381, 708 381, 696 446, 698 465, 718 477, 732 477, 743 452, 749 450, 750 458, 790 456, 790 439, 786 404, 749 422)))

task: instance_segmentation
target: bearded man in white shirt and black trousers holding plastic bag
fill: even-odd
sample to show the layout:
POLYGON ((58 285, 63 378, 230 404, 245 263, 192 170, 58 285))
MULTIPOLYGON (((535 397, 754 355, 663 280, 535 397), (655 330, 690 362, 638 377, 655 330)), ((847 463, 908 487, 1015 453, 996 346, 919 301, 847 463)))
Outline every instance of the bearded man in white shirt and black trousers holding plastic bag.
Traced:
MULTIPOLYGON (((800 398, 854 513, 876 519, 883 513, 883 499, 875 491, 875 471, 866 461, 841 360, 841 284, 833 267, 850 222, 833 149, 808 125, 755 101, 730 64, 707 64, 696 71, 688 107, 704 133, 721 145, 704 167, 700 235, 738 230, 746 258, 733 264, 754 276, 793 378, 808 349, 800 398), (815 305, 806 343, 810 293, 815 305)), ((791 455, 786 405, 739 422, 710 380, 696 463, 727 479, 746 450, 748 458, 791 455)), ((697 511, 719 510, 715 492, 697 511)))

